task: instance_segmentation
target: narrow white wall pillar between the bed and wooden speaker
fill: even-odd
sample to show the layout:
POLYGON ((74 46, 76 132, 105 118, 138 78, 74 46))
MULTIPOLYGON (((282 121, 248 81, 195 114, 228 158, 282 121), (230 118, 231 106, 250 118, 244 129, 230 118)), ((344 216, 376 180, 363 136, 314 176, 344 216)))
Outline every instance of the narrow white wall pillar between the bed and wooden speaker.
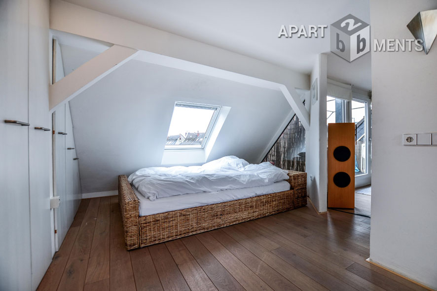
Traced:
POLYGON ((306 132, 307 192, 319 212, 327 211, 327 146, 326 86, 327 55, 319 54, 311 73, 311 84, 318 81, 318 101, 313 105, 310 98, 305 102, 310 109, 311 128, 306 132))

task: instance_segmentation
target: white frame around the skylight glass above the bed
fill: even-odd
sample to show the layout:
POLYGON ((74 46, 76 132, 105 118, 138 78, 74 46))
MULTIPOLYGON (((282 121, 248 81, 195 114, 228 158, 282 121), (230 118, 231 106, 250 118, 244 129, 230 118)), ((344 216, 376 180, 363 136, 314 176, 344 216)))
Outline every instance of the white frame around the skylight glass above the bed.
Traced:
MULTIPOLYGON (((207 130, 205 132, 205 137, 203 138, 201 145, 182 145, 182 146, 181 145, 165 145, 164 150, 199 150, 199 149, 204 149, 206 144, 208 143, 210 137, 211 137, 211 132, 213 131, 214 127, 216 126, 221 106, 177 101, 177 102, 175 102, 174 108, 176 108, 176 107, 214 110, 214 113, 213 113, 213 116, 211 117, 211 120, 208 124, 207 130)), ((173 114, 172 114, 172 118, 173 118, 173 114)))

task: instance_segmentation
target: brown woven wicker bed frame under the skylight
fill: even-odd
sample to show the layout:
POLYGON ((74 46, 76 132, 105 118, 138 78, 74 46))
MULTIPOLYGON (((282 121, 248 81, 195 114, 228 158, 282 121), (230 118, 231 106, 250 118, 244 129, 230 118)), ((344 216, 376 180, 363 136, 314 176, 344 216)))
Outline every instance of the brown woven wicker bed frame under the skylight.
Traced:
POLYGON ((118 202, 126 249, 146 247, 306 205, 306 173, 289 171, 291 188, 272 194, 140 217, 139 201, 125 175, 118 202))

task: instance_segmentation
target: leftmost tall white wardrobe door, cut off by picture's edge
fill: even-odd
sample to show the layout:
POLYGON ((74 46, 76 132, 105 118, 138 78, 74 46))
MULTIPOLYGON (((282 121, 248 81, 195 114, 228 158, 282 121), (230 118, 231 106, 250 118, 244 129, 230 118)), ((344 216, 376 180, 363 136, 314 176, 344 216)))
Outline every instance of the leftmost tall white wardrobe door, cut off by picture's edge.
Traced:
POLYGON ((31 290, 27 0, 0 1, 0 290, 31 290))

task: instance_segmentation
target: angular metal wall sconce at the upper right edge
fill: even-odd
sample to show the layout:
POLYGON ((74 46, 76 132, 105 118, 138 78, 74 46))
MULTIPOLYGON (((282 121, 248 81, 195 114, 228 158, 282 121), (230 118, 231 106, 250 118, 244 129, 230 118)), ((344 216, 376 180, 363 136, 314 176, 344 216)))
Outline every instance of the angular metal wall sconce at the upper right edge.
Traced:
POLYGON ((422 40, 426 54, 437 36, 437 9, 420 11, 406 26, 416 39, 422 40))

